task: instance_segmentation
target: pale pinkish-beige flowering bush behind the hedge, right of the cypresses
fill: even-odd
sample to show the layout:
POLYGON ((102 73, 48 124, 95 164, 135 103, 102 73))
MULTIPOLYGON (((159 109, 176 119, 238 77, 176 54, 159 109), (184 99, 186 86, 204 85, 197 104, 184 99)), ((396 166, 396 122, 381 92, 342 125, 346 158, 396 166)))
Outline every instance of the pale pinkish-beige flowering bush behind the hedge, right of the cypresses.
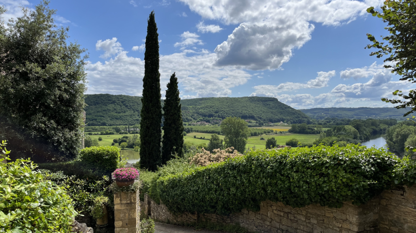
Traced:
POLYGON ((241 156, 233 147, 225 150, 215 149, 210 153, 202 148, 202 153, 197 153, 195 156, 189 158, 189 164, 195 164, 198 166, 208 166, 211 163, 219 163, 227 158, 235 158, 241 156))

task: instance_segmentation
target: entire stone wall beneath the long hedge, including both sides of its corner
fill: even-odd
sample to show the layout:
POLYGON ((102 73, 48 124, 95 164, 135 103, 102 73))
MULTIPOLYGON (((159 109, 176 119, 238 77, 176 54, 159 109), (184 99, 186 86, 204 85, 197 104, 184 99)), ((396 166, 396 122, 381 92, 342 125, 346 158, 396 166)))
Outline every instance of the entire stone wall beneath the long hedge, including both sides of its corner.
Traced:
POLYGON ((380 197, 360 206, 345 202, 341 208, 320 205, 292 208, 281 202, 263 201, 258 212, 243 209, 228 216, 196 213, 174 215, 163 203, 157 204, 146 194, 143 206, 148 206, 146 200, 150 200, 148 214, 162 222, 183 224, 198 220, 238 223, 254 232, 416 233, 416 187, 385 191, 380 197))

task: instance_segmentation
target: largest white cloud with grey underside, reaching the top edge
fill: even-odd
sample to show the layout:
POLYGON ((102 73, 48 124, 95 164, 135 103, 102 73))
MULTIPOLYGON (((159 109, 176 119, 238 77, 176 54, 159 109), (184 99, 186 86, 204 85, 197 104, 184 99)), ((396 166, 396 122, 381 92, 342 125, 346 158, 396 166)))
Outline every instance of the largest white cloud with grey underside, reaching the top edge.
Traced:
POLYGON ((278 69, 311 40, 313 22, 339 26, 366 16, 382 0, 180 0, 202 18, 239 25, 215 49, 219 66, 278 69))

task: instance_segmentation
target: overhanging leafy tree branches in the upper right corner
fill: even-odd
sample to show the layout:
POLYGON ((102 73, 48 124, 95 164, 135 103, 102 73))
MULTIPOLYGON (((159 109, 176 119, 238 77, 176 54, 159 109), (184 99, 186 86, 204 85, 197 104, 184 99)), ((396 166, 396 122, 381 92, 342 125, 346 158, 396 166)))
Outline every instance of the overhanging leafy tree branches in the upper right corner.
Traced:
MULTIPOLYGON (((416 80, 416 2, 414 0, 385 1, 381 7, 382 13, 374 11, 374 7, 367 9, 367 12, 373 16, 381 18, 383 22, 388 23, 387 31, 390 35, 382 37, 388 44, 379 42, 371 34, 367 34, 368 39, 373 42, 366 48, 376 48, 378 51, 372 52, 370 56, 377 55, 381 58, 389 55, 384 62, 392 62, 384 65, 385 68, 391 68, 392 73, 401 75, 400 80, 407 80, 415 83, 416 80)), ((416 92, 410 90, 405 95, 400 90, 393 92, 393 95, 401 97, 401 99, 382 98, 384 102, 393 104, 400 103, 396 108, 411 107, 411 110, 405 113, 408 115, 416 110, 416 92)))

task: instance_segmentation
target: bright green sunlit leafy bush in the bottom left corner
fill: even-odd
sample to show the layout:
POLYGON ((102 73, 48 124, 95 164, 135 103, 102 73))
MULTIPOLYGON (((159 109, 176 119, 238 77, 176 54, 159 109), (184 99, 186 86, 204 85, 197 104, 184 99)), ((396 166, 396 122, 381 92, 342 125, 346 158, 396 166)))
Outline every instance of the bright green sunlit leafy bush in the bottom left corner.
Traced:
POLYGON ((34 171, 30 160, 0 162, 0 231, 69 232, 77 215, 65 187, 34 171))

